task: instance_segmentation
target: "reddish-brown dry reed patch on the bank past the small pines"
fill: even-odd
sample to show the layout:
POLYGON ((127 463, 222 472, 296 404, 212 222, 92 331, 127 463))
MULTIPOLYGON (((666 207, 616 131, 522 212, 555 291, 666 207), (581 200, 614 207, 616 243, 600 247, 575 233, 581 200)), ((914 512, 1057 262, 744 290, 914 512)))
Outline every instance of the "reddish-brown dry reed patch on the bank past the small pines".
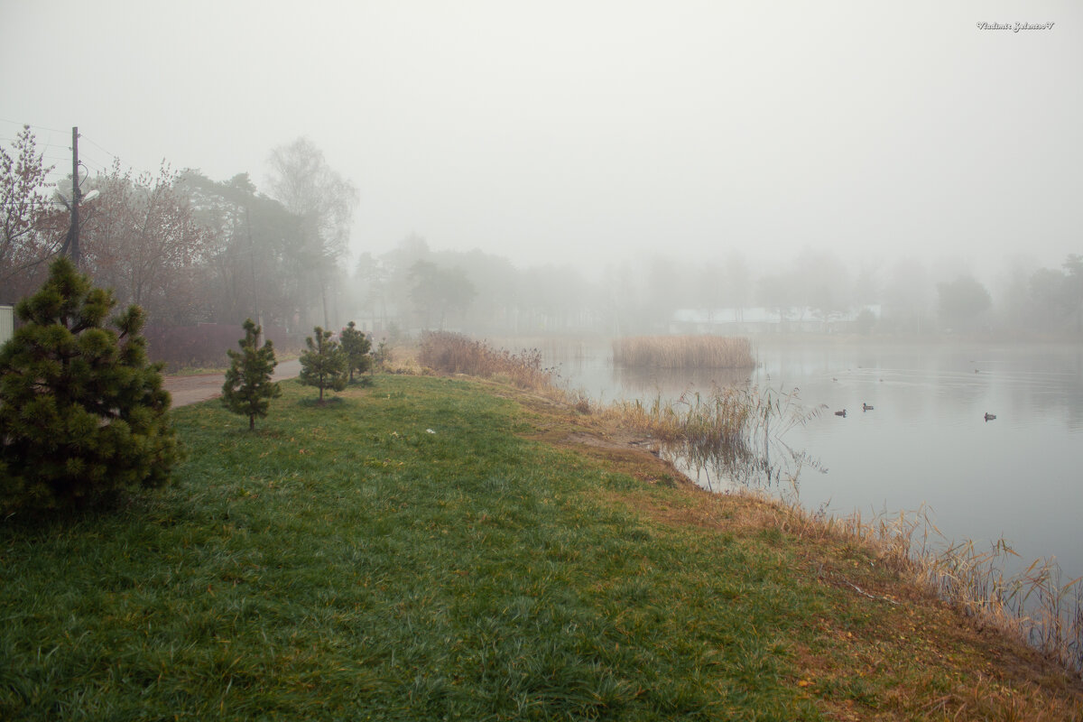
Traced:
POLYGON ((539 350, 512 353, 451 331, 422 333, 417 360, 434 371, 506 381, 520 389, 543 391, 557 385, 557 371, 543 366, 539 350))

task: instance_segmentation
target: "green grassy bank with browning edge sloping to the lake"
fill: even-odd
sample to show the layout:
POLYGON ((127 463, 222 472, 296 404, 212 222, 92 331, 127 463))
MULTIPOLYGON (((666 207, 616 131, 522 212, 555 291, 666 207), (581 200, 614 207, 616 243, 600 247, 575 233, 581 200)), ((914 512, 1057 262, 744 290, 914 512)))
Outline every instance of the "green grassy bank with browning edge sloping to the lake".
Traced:
POLYGON ((379 376, 177 485, 0 523, 0 719, 1079 719, 869 547, 680 482, 600 415, 379 376))

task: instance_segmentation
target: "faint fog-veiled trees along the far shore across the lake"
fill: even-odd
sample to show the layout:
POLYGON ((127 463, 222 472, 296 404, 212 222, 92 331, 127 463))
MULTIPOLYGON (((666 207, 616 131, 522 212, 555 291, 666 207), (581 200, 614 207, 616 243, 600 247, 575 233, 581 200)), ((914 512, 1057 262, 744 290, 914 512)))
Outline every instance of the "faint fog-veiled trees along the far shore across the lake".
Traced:
POLYGON ((382 255, 362 254, 341 304, 384 336, 657 333, 679 310, 754 307, 808 327, 848 314, 851 330, 864 333, 1083 334, 1083 255, 1054 268, 1013 262, 992 281, 958 263, 910 257, 851 265, 811 248, 758 270, 740 251, 717 260, 658 253, 614 261, 591 280, 570 264, 519 268, 478 250, 434 251, 410 236, 382 255))

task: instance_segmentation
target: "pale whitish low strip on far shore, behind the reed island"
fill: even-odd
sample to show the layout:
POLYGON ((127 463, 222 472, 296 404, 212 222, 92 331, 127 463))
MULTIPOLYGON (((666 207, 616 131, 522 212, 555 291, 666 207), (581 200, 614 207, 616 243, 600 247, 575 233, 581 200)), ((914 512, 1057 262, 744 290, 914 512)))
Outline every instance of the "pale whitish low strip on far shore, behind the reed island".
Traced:
POLYGON ((869 310, 879 318, 879 305, 823 314, 808 306, 748 309, 678 309, 669 330, 674 333, 807 333, 851 332, 858 315, 869 310))

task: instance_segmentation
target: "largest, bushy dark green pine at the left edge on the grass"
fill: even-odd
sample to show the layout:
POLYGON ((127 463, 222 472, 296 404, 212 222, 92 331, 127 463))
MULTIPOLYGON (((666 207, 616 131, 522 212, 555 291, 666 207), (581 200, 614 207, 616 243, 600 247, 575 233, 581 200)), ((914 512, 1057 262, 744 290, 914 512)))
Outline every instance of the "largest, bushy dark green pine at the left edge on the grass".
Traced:
POLYGON ((139 306, 104 326, 116 303, 61 258, 15 306, 24 325, 0 349, 0 512, 168 481, 179 454, 161 365, 147 360, 139 306))

